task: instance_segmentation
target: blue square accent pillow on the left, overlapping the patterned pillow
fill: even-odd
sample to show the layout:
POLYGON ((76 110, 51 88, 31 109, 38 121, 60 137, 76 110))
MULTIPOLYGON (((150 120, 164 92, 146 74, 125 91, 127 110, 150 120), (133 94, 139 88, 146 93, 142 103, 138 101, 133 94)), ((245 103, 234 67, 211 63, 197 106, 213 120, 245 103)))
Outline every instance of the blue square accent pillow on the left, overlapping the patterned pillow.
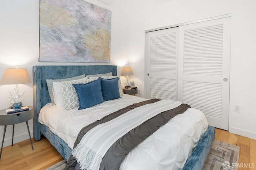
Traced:
POLYGON ((78 110, 86 109, 104 102, 100 88, 100 80, 94 80, 86 84, 72 84, 72 86, 76 89, 78 96, 78 110))

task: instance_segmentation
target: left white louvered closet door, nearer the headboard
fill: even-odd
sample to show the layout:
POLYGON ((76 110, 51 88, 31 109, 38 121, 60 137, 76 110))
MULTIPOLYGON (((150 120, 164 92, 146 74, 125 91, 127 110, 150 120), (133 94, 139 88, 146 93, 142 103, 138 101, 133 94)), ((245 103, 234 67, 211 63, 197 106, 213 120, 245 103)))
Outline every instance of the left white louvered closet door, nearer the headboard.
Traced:
POLYGON ((178 27, 146 33, 146 98, 177 100, 178 27))

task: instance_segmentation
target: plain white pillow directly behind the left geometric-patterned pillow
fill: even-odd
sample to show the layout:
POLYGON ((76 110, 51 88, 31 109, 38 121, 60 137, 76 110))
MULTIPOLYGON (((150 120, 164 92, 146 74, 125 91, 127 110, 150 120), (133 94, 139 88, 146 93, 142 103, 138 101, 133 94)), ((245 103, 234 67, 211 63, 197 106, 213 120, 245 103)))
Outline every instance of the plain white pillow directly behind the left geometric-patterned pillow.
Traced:
MULTIPOLYGON (((68 82, 83 81, 83 80, 88 80, 88 78, 84 77, 84 78, 81 78, 78 80, 70 80, 68 82)), ((54 96, 54 103, 56 104, 56 106, 64 107, 61 82, 52 82, 52 92, 53 92, 53 96, 54 96)))

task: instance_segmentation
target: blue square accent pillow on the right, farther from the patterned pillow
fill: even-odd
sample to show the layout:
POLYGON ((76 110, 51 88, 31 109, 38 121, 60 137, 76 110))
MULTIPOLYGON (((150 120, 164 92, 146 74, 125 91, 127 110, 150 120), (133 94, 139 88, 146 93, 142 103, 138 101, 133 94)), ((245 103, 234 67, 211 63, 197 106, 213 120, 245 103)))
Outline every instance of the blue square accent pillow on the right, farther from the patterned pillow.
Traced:
POLYGON ((120 98, 118 80, 119 78, 104 79, 99 78, 101 84, 101 91, 104 101, 120 98))

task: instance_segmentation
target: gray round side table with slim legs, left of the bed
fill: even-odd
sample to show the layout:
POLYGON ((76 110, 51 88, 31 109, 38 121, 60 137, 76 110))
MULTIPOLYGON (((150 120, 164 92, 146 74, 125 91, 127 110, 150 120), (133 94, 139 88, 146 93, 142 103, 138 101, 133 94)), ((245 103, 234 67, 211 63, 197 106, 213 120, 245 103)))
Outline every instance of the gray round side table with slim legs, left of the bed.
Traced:
MULTIPOLYGON (((12 145, 13 145, 14 125, 26 121, 26 124, 28 127, 28 120, 32 119, 34 116, 34 114, 33 114, 34 107, 28 106, 28 108, 29 108, 29 110, 20 111, 20 112, 11 113, 11 114, 6 114, 6 112, 5 112, 6 109, 0 110, 0 125, 4 125, 4 135, 3 135, 2 147, 1 147, 1 152, 0 152, 0 160, 1 160, 1 155, 2 155, 2 150, 3 150, 3 145, 4 145, 4 136, 5 136, 7 125, 12 125, 12 145)), ((30 138, 32 150, 34 150, 30 132, 29 132, 29 127, 28 127, 28 135, 30 138)))

